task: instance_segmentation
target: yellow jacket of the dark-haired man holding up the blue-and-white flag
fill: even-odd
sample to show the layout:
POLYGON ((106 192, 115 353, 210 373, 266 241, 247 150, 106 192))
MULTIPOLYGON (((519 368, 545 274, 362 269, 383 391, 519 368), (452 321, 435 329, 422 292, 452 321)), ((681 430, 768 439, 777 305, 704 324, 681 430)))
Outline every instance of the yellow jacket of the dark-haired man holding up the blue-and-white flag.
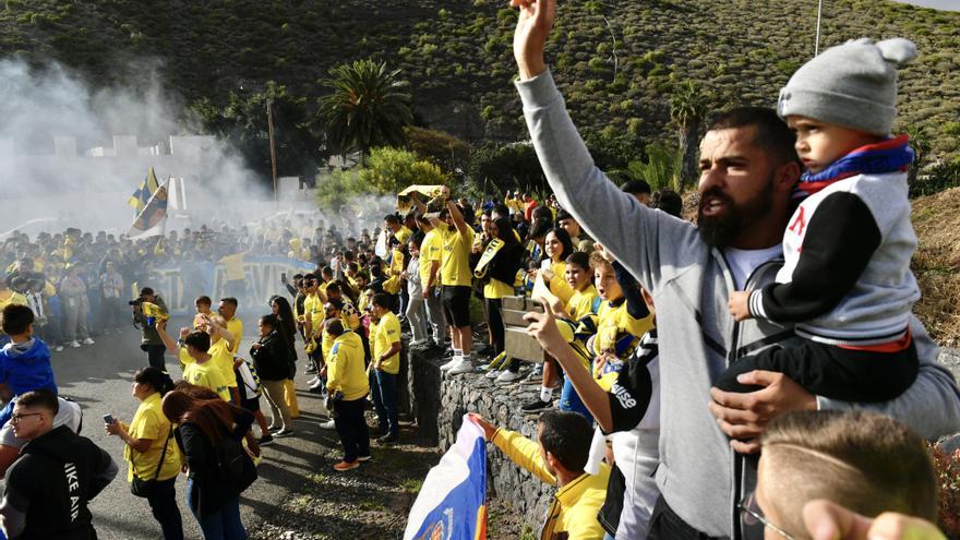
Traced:
MULTIPOLYGON (((540 480, 556 484, 556 478, 547 470, 540 457, 540 445, 506 430, 496 430, 495 444, 513 463, 532 472, 540 480)), ((577 540, 601 540, 604 531, 597 520, 597 514, 607 500, 607 483, 610 481, 610 467, 600 464, 597 475, 584 472, 574 481, 556 490, 547 521, 540 532, 541 540, 569 538, 577 540), (564 535, 565 533, 565 535, 564 535)))

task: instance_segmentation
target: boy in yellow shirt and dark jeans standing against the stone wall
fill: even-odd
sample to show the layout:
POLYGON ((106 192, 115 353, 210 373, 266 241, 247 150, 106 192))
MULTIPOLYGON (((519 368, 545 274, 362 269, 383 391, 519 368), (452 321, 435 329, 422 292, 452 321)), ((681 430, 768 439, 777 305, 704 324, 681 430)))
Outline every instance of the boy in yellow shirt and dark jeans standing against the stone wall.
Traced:
POLYGON ((397 374, 400 372, 400 322, 391 311, 389 295, 377 292, 371 301, 376 327, 371 334, 372 362, 370 389, 373 407, 380 419, 380 430, 386 433, 376 441, 395 443, 397 424, 397 374))

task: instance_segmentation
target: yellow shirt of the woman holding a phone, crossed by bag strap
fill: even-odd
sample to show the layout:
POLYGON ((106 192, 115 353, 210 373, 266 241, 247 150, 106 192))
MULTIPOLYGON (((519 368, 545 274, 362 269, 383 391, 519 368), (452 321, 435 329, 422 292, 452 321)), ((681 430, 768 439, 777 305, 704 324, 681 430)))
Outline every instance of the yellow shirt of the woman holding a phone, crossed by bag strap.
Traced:
POLYGON ((164 415, 160 408, 160 394, 153 393, 146 399, 140 403, 133 420, 127 427, 127 432, 133 439, 151 439, 153 442, 146 452, 136 452, 130 446, 125 446, 123 458, 130 464, 127 471, 127 481, 133 481, 133 475, 141 480, 153 480, 157 473, 157 465, 160 461, 160 455, 164 455, 164 465, 160 466, 160 472, 157 480, 169 480, 180 473, 180 449, 177 447, 177 441, 170 432, 170 421, 164 415), (167 437, 170 439, 167 442, 167 437), (167 445, 167 453, 164 454, 164 444, 167 445))

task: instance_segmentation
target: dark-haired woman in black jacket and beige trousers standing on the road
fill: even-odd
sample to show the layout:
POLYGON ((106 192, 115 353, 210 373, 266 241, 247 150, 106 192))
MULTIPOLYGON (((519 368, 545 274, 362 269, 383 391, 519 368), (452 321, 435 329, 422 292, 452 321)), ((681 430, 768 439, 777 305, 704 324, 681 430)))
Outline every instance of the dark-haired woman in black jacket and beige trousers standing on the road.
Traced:
POLYGON ((250 347, 250 358, 269 403, 268 430, 274 436, 291 435, 290 410, 284 401, 284 381, 290 376, 290 343, 273 313, 260 317, 257 328, 260 338, 250 347))

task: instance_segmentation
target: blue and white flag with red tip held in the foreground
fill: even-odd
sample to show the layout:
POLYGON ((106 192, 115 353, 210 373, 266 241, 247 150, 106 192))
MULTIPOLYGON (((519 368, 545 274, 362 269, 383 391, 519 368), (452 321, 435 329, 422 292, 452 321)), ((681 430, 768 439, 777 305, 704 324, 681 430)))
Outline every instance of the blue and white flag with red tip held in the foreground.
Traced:
POLYGON ((464 415, 457 442, 430 469, 407 518, 404 540, 487 538, 487 440, 464 415))

